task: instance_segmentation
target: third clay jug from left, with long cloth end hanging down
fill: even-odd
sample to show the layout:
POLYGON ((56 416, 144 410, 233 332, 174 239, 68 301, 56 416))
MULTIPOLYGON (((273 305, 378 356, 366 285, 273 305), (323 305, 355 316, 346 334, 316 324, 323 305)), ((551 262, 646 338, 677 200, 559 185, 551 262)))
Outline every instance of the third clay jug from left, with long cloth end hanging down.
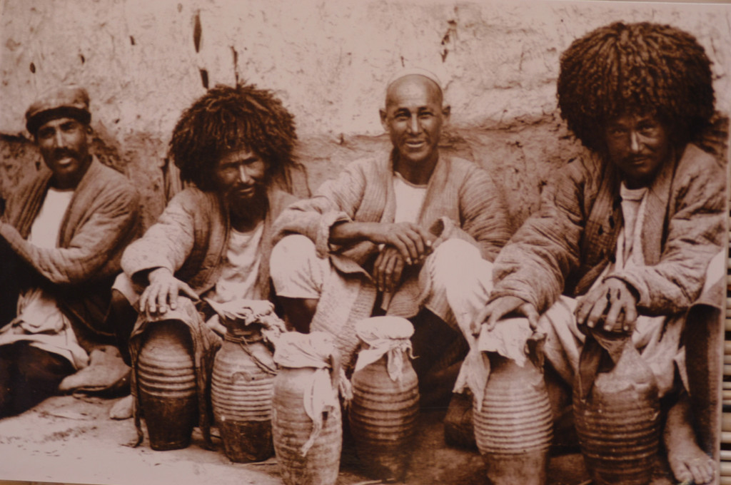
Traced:
POLYGON ((342 449, 339 356, 329 334, 288 332, 274 353, 272 435, 287 485, 333 485, 342 449))

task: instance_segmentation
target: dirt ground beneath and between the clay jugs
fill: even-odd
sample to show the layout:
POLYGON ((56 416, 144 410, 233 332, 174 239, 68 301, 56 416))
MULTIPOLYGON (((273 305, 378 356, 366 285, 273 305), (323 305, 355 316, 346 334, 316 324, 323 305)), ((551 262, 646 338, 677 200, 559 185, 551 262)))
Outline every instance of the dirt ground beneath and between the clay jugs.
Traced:
MULTIPOLYGON (((153 451, 126 446, 136 437, 131 419, 113 421, 107 413, 115 400, 98 397, 53 397, 20 416, 0 421, 0 478, 66 484, 279 485, 276 458, 257 464, 234 464, 223 452, 202 448, 197 430, 189 448, 153 451)), ((406 485, 485 484, 476 451, 444 443, 443 411, 420 413, 419 435, 406 485)), ((222 446, 219 446, 222 448, 222 446)), ((580 454, 554 456, 549 485, 586 485, 580 454)), ((2 482, 5 485, 10 482, 2 482)), ((348 443, 344 446, 337 485, 380 484, 363 475, 348 443)), ((660 478, 654 485, 668 485, 660 478)))

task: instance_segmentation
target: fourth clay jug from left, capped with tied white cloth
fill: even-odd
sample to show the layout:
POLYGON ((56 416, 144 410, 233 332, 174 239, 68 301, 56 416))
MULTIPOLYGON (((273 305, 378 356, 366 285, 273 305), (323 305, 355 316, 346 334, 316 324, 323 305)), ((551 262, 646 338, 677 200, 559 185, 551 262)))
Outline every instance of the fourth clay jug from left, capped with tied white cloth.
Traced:
POLYGON ((366 473, 403 481, 414 442, 419 386, 411 364, 411 322, 367 318, 355 325, 362 350, 352 376, 350 431, 366 473))

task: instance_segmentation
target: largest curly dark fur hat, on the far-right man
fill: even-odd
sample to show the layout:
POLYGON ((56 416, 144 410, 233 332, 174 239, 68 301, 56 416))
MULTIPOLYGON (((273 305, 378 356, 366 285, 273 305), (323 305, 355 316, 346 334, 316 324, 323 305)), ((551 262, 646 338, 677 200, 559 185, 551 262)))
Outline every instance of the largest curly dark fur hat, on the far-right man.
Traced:
POLYGON ((558 107, 592 150, 604 147, 605 123, 625 113, 656 115, 683 145, 713 115, 711 61, 696 39, 656 23, 597 28, 561 55, 558 107))

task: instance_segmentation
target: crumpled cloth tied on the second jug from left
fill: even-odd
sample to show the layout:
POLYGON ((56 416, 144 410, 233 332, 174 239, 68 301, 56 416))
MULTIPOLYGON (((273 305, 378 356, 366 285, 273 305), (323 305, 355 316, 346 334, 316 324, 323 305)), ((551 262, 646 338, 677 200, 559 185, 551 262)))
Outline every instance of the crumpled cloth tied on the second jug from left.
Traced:
POLYGON ((238 322, 246 326, 259 324, 264 340, 276 347, 279 336, 287 332, 284 321, 274 313, 273 303, 266 299, 234 299, 219 303, 205 298, 205 302, 216 312, 229 333, 238 322))

